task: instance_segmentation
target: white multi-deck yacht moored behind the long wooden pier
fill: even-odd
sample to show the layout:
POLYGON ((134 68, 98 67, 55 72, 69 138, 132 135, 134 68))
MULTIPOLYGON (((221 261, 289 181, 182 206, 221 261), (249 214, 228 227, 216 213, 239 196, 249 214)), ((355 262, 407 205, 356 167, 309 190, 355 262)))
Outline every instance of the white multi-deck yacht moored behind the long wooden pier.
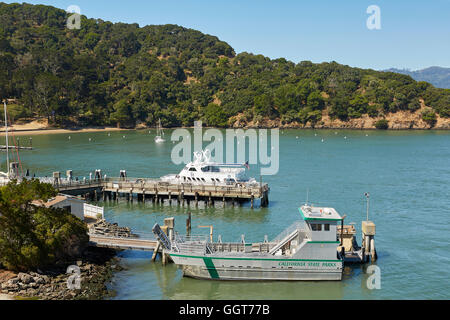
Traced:
POLYGON ((194 152, 194 161, 187 164, 177 175, 161 177, 163 182, 191 183, 204 185, 252 185, 258 182, 247 177, 248 163, 225 164, 211 160, 209 150, 194 152))

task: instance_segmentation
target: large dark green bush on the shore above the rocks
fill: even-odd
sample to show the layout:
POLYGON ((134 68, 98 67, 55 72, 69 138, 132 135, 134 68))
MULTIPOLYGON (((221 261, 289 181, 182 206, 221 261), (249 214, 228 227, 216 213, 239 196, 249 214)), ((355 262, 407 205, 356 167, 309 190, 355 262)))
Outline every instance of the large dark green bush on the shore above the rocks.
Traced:
POLYGON ((0 189, 0 263, 29 271, 81 253, 89 238, 83 221, 62 209, 40 207, 56 195, 49 184, 15 181, 0 189))

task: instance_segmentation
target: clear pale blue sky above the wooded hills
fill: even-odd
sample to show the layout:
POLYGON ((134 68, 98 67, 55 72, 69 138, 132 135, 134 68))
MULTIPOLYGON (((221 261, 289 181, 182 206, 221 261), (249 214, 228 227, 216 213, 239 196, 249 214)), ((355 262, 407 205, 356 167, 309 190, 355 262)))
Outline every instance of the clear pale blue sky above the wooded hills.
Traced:
MULTIPOLYGON (((17 1, 6 1, 8 3, 17 1)), ((237 53, 372 69, 450 67, 450 0, 38 0, 112 22, 178 24, 215 35, 237 53), (368 30, 369 5, 381 30, 368 30)))

